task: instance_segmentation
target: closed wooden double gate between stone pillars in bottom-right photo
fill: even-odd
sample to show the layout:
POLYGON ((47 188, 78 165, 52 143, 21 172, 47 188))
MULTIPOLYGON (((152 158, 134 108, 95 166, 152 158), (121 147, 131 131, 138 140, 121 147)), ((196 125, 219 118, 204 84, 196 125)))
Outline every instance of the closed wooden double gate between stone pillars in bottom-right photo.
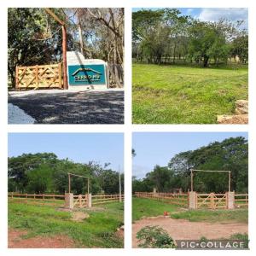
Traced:
POLYGON ((226 194, 196 194, 196 208, 220 209, 227 208, 228 201, 226 194))

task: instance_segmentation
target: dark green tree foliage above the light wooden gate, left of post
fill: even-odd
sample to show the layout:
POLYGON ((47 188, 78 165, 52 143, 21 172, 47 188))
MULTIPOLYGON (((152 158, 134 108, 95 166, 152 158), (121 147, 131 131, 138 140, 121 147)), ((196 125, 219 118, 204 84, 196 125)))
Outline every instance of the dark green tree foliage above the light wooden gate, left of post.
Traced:
MULTIPOLYGON (((61 15, 58 9, 56 13, 61 15)), ((12 84, 15 84, 16 66, 60 60, 61 31, 50 37, 51 30, 55 32, 59 27, 54 20, 47 19, 44 9, 8 9, 8 71, 12 84)))

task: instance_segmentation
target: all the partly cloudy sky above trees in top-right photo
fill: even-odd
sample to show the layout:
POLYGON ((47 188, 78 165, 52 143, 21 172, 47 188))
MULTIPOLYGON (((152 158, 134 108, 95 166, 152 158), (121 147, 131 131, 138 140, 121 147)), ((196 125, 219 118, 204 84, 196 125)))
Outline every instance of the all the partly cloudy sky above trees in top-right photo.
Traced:
MULTIPOLYGON (((132 11, 137 11, 142 8, 134 8, 132 11)), ((151 9, 151 8, 150 8, 151 9)), ((156 8, 152 8, 156 9, 156 8)), ((195 19, 203 21, 216 21, 222 18, 236 21, 244 20, 241 28, 247 29, 248 26, 248 9, 247 8, 178 8, 182 15, 190 15, 195 19)))

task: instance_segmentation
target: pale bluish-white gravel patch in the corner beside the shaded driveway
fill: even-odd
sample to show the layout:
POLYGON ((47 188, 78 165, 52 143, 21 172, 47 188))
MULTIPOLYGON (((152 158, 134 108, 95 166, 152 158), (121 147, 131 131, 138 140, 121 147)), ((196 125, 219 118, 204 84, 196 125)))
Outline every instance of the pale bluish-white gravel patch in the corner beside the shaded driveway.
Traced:
POLYGON ((8 123, 9 124, 34 124, 36 119, 28 115, 19 107, 8 104, 8 123))

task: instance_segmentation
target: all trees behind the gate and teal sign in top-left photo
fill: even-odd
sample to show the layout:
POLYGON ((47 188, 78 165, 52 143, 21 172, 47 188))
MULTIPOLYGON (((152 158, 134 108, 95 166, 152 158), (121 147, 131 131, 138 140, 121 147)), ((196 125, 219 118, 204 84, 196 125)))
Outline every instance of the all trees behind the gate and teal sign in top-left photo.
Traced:
MULTIPOLYGON (((67 27, 67 50, 79 50, 87 58, 122 64, 124 9, 52 11, 67 27)), ((61 26, 45 9, 8 9, 8 72, 12 86, 16 66, 46 65, 61 60, 61 26)))

